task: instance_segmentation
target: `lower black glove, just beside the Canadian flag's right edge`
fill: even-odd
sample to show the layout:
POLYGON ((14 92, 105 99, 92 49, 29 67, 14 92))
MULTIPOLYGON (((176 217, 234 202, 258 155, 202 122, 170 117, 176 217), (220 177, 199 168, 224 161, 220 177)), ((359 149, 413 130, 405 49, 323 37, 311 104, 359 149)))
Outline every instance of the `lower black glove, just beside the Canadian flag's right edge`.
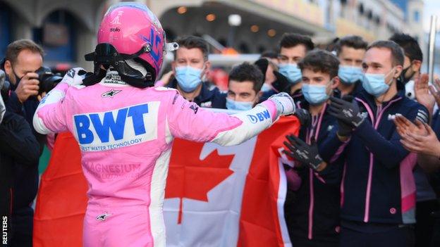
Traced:
POLYGON ((287 141, 284 141, 284 145, 289 149, 288 151, 283 151, 286 155, 308 165, 313 170, 319 169, 323 160, 319 156, 318 145, 314 139, 312 139, 312 144, 309 145, 293 134, 286 136, 286 138, 287 141))

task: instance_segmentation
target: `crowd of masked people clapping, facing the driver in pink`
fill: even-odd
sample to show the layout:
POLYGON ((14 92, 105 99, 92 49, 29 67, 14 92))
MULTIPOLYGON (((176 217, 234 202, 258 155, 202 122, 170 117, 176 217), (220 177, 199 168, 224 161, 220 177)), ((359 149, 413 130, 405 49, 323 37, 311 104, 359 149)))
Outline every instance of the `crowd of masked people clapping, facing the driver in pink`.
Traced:
POLYGON ((223 94, 203 80, 207 43, 177 42, 171 77, 158 83, 200 106, 248 110, 280 91, 294 99, 301 128, 286 138, 295 166, 286 166, 285 205, 293 246, 439 245, 440 153, 429 125, 438 122, 440 85, 420 72, 417 40, 347 36, 326 51, 284 34, 277 52, 236 65, 223 94))

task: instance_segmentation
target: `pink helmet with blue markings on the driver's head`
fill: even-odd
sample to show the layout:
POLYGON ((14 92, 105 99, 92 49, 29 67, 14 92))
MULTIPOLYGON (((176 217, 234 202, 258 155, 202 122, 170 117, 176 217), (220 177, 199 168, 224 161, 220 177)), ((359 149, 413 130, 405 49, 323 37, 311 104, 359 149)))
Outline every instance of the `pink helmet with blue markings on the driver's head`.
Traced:
POLYGON ((95 75, 101 73, 99 77, 101 65, 111 65, 128 84, 149 87, 159 74, 165 48, 165 32, 157 17, 143 4, 126 2, 111 6, 106 12, 99 25, 98 45, 85 59, 94 61, 95 75), (130 67, 126 63, 130 59, 140 63, 147 75, 130 67))

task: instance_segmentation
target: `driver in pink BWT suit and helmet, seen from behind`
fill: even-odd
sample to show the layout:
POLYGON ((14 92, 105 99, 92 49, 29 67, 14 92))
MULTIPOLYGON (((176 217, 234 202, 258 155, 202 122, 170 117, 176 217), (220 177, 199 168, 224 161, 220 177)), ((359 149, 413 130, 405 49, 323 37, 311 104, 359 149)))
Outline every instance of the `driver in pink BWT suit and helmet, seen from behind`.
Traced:
POLYGON ((84 71, 70 70, 35 113, 37 131, 70 131, 80 144, 90 184, 84 246, 165 246, 162 205, 173 137, 236 145, 295 110, 283 93, 236 115, 212 113, 176 89, 148 87, 170 47, 164 40, 145 5, 111 6, 95 52, 86 55, 96 66, 83 81, 89 87, 78 86, 84 71), (121 31, 109 31, 116 27, 121 31))

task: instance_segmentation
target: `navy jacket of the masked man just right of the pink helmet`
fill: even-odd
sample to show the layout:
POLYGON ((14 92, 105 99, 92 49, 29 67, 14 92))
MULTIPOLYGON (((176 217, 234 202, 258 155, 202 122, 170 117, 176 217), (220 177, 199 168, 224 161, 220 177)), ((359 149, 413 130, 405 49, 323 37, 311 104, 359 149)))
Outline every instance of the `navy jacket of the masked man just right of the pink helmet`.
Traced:
MULTIPOLYGON (((176 78, 173 78, 166 87, 177 89, 176 78)), ((202 90, 200 90, 200 94, 194 98, 193 102, 197 103, 200 107, 226 109, 226 96, 221 93, 219 88, 210 88, 207 82, 202 82, 202 90)))

